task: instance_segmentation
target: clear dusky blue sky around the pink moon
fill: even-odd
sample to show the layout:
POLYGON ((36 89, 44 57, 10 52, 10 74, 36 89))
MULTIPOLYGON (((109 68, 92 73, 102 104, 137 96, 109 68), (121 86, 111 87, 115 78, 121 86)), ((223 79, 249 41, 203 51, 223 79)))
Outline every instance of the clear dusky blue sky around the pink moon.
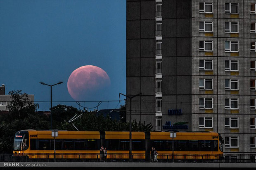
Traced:
MULTIPOLYGON (((0 59, 6 94, 22 90, 35 101, 50 101, 50 87, 39 82, 63 81, 52 87, 52 100, 74 101, 67 90, 70 74, 95 65, 107 72, 111 86, 86 100, 119 100, 119 92, 126 93, 126 0, 0 0, 0 59)), ((99 109, 119 102, 104 103, 99 109)), ((39 107, 49 110, 50 103, 39 107)))

